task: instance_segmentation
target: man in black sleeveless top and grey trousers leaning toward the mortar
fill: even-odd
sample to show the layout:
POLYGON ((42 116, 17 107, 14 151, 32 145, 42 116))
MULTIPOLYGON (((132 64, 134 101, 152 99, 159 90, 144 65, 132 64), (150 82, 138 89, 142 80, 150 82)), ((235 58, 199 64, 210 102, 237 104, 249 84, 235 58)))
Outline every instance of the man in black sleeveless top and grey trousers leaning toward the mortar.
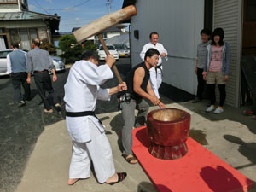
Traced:
POLYGON ((126 77, 127 91, 125 93, 125 101, 122 102, 122 115, 125 125, 122 129, 122 143, 124 147, 123 156, 128 163, 136 164, 137 159, 132 154, 132 127, 135 124, 135 109, 138 110, 137 126, 143 126, 148 113, 148 103, 144 99, 148 99, 155 106, 166 108, 165 104, 160 102, 154 94, 154 90, 150 84, 149 69, 156 67, 159 61, 159 51, 157 49, 148 49, 145 54, 144 61, 132 68, 126 77))

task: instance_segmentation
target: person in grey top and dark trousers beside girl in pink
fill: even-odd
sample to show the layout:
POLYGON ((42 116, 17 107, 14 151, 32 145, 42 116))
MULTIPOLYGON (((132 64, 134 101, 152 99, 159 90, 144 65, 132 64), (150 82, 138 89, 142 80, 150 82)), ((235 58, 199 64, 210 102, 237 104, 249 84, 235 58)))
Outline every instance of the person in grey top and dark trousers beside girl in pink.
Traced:
POLYGON ((202 29, 200 32, 201 43, 197 45, 197 58, 195 74, 197 75, 197 93, 193 103, 201 102, 202 94, 205 88, 205 80, 203 79, 203 71, 207 61, 207 45, 210 44, 209 38, 211 31, 208 29, 202 29))

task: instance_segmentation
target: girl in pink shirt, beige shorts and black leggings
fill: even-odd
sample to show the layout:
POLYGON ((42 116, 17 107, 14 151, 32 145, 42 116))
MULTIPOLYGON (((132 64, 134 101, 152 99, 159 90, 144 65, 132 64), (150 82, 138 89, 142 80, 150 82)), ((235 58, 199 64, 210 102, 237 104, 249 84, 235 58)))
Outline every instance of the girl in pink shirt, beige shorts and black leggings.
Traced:
POLYGON ((212 34, 212 43, 207 45, 207 64, 204 68, 203 79, 207 81, 207 89, 211 105, 206 112, 215 114, 223 113, 223 105, 226 98, 225 84, 230 73, 230 45, 224 42, 224 31, 216 28, 212 34), (215 108, 215 84, 218 84, 220 94, 219 106, 215 108))

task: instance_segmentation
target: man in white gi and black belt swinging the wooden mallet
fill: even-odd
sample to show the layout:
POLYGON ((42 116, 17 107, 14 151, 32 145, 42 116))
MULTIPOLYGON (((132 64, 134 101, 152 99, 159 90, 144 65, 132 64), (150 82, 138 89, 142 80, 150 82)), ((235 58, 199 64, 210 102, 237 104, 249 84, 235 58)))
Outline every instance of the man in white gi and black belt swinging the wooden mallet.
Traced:
POLYGON ((115 172, 108 137, 94 110, 97 99, 109 101, 111 95, 127 90, 127 86, 124 82, 111 89, 101 89, 101 84, 113 78, 111 67, 115 59, 108 55, 106 64, 101 66, 98 59, 96 51, 84 52, 82 60, 71 67, 64 86, 67 131, 73 140, 69 185, 90 177, 90 160, 99 183, 114 184, 126 177, 125 172, 115 172))

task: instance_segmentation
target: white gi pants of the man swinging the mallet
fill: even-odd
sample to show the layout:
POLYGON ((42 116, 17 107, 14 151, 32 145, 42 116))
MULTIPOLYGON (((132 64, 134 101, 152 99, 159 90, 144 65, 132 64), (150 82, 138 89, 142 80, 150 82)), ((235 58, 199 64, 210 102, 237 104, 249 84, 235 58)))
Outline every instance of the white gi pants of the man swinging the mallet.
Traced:
POLYGON ((90 160, 92 160, 99 183, 104 183, 115 173, 112 150, 105 132, 101 133, 90 121, 90 142, 73 141, 73 155, 69 167, 69 178, 90 177, 90 160))

